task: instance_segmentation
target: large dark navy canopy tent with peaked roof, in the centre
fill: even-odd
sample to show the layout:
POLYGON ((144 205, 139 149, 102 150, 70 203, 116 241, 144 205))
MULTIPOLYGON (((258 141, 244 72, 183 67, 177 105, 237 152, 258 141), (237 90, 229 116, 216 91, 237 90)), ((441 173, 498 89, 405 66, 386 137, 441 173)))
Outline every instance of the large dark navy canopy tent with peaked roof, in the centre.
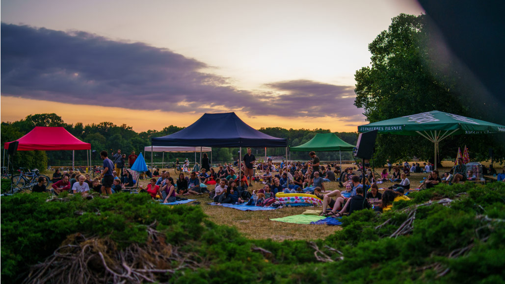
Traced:
MULTIPOLYGON (((285 147, 287 157, 287 139, 272 137, 248 126, 235 115, 235 112, 205 113, 196 122, 181 131, 163 137, 151 138, 151 145, 238 147, 239 169, 242 147, 285 147), (212 122, 212 127, 209 125, 210 122, 212 122)), ((238 173, 240 180, 240 171, 238 173)))

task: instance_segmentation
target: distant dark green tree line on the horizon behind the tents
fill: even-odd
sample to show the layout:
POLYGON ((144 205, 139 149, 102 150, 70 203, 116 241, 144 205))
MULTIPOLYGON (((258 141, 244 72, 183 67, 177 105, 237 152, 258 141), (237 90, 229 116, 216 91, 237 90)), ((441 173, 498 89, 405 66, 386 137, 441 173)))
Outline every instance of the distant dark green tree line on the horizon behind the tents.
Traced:
MULTIPOLYGON (((136 154, 142 152, 147 162, 150 161, 150 153, 144 153, 144 147, 150 145, 150 139, 153 137, 161 137, 170 135, 180 131, 183 127, 168 126, 161 131, 147 130, 140 133, 135 132, 126 124, 115 125, 111 122, 101 122, 98 124, 83 125, 82 123, 67 124, 56 113, 41 113, 29 115, 25 119, 15 122, 3 122, 1 127, 1 142, 2 144, 21 138, 30 132, 36 126, 46 127, 64 127, 69 133, 76 138, 91 144, 91 149, 96 150, 93 154, 92 163, 101 164, 99 152, 106 150, 109 153, 116 152, 121 149, 122 153, 127 156, 132 150, 136 154)), ((259 131, 278 138, 286 138, 290 146, 298 146, 304 144, 314 138, 316 133, 330 133, 329 129, 284 129, 279 127, 261 128, 259 131)), ((345 142, 356 145, 358 135, 354 132, 335 132, 345 142)), ((265 156, 265 148, 252 148, 252 152, 257 155, 260 160, 265 156)), ((87 165, 86 151, 75 151, 75 165, 87 165)), ((213 161, 231 162, 238 159, 239 148, 216 148, 212 149, 213 161)), ((209 153, 210 154, 210 153, 209 153)), ((242 149, 242 154, 245 154, 245 149, 242 149)), ((284 148, 267 148, 267 156, 285 156, 284 148)), ((322 160, 338 160, 338 152, 321 152, 319 156, 322 160)), ((162 160, 167 163, 174 162, 177 158, 183 161, 188 158, 191 163, 194 162, 194 153, 154 153, 153 160, 155 163, 161 163, 162 160)), ((308 160, 308 153, 292 152, 291 159, 308 160)), ((2 151, 2 159, 4 152, 2 151)), ((7 157, 6 157, 7 159, 7 157)), ((342 152, 342 159, 352 159, 350 152, 342 152)), ((199 153, 196 155, 196 160, 199 161, 199 153)), ((45 169, 47 166, 70 166, 72 163, 72 151, 18 151, 14 159, 15 168, 38 168, 45 169)))

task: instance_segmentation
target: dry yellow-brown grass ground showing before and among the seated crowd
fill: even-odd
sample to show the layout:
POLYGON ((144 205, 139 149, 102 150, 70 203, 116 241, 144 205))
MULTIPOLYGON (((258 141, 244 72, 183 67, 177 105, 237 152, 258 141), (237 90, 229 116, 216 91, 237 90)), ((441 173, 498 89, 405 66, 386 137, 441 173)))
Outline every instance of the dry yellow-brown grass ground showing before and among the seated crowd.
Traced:
MULTIPOLYGON (((422 165, 422 162, 420 162, 422 165)), ((449 171, 452 166, 451 162, 443 162, 444 168, 439 169, 439 172, 449 171)), ((344 167, 355 166, 352 164, 343 164, 344 167)), ((383 168, 376 168, 376 172, 380 174, 383 168)), ((176 179, 177 175, 174 169, 169 169, 170 176, 176 179)), ((277 173, 273 173, 275 175, 277 173)), ((411 188, 416 188, 419 182, 427 177, 428 174, 411 174, 409 180, 411 188)), ((148 180, 140 180, 139 185, 146 186, 148 180)), ((392 183, 387 182, 379 185, 381 187, 389 187, 392 183)), ((259 189, 261 183, 254 183, 252 189, 259 189)), ((340 189, 338 183, 325 183, 327 191, 340 189)), ((213 185, 209 185, 209 190, 214 189, 213 185)), ((249 188, 251 189, 251 188, 249 188)), ((305 224, 291 224, 278 221, 272 221, 270 218, 279 218, 289 215, 301 214, 307 209, 319 209, 313 207, 288 207, 269 211, 240 211, 232 208, 225 208, 222 206, 212 206, 207 203, 212 202, 208 194, 201 196, 184 196, 191 199, 196 199, 201 204, 204 212, 209 216, 210 220, 224 225, 235 226, 241 233, 251 239, 272 239, 274 241, 283 240, 314 240, 324 239, 331 235, 333 232, 340 230, 340 226, 328 225, 305 225, 305 224)), ((178 205, 178 206, 192 206, 192 205, 178 205)))

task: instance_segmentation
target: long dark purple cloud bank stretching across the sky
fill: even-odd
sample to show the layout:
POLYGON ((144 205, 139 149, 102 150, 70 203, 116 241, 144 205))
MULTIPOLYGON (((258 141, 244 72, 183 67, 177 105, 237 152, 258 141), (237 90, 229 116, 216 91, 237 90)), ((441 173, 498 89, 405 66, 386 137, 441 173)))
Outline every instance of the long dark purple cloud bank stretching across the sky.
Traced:
POLYGON ((251 116, 354 117, 354 91, 296 80, 251 93, 200 70, 205 63, 144 43, 1 24, 2 95, 74 104, 197 113, 242 109, 251 116), (347 96, 347 97, 345 97, 347 96))

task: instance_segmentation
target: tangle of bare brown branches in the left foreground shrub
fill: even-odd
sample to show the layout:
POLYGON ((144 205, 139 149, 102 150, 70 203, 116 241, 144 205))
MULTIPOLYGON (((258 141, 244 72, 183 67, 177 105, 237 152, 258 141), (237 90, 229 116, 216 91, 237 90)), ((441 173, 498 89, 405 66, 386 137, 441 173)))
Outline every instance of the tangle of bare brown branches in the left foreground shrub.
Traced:
POLYGON ((208 267, 205 260, 165 242, 147 226, 145 244, 119 250, 108 238, 70 236, 52 256, 33 265, 25 283, 142 283, 167 282, 180 269, 208 267))

